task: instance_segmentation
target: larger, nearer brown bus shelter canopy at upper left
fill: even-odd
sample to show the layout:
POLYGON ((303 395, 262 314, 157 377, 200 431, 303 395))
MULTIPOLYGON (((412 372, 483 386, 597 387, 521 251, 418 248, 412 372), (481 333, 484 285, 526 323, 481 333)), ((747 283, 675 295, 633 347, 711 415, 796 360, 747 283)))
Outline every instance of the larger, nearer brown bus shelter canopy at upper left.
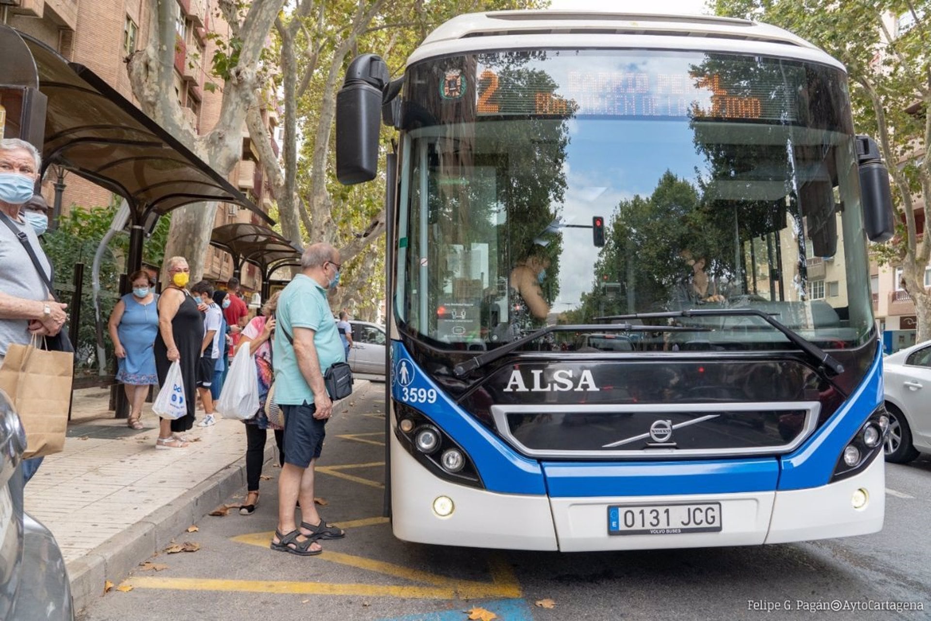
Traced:
POLYGON ((0 26, 0 58, 15 59, 4 62, 0 84, 12 77, 17 84, 37 88, 37 99, 45 100, 43 128, 36 127, 41 106, 32 109, 30 127, 20 128, 24 140, 41 145, 43 174, 58 165, 128 202, 128 273, 142 265, 144 233, 172 209, 223 201, 274 223, 223 175, 87 67, 7 26, 0 26))

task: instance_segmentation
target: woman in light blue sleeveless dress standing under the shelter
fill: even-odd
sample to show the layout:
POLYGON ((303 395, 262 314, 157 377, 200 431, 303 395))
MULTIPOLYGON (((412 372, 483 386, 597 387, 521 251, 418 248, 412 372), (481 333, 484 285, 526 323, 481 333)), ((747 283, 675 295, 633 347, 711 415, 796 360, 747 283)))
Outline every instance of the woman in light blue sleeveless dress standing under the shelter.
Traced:
POLYGON ((123 384, 132 408, 127 425, 142 429, 142 404, 149 386, 158 384, 153 344, 158 333, 158 296, 152 291, 149 274, 143 270, 130 275, 132 293, 114 307, 107 325, 119 359, 116 381, 123 384))

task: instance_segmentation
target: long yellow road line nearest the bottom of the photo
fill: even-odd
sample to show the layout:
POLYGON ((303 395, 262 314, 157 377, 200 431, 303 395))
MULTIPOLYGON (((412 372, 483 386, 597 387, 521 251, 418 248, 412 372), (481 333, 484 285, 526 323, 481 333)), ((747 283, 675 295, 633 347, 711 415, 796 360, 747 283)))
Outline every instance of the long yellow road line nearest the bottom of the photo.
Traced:
POLYGON ((407 585, 366 585, 358 583, 291 582, 268 580, 223 580, 210 578, 159 578, 139 576, 123 583, 134 588, 162 588, 185 591, 236 591, 301 595, 365 595, 420 600, 474 600, 520 597, 519 587, 488 584, 476 587, 419 587, 407 585))

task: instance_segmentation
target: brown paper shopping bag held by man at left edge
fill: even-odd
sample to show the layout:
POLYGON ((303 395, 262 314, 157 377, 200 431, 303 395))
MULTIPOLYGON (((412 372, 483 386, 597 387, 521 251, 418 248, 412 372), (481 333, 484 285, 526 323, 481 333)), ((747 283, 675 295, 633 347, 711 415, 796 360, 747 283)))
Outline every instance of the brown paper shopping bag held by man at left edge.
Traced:
POLYGON ((74 354, 32 344, 10 344, 0 366, 7 392, 26 431, 24 457, 42 457, 64 448, 74 377, 74 354))

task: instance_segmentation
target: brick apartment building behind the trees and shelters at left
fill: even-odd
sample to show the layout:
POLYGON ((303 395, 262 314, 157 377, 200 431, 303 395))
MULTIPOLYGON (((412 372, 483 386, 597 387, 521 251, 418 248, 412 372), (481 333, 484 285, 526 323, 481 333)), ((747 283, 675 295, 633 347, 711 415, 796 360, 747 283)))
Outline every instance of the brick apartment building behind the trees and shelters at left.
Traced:
MULTIPOLYGON (((185 119, 197 133, 207 133, 220 115, 222 95, 205 88, 209 74, 205 65, 212 58, 215 43, 208 33, 229 35, 229 26, 217 17, 217 0, 175 0, 177 40, 174 58, 174 88, 185 119)), ((146 43, 149 3, 145 0, 0 0, 6 10, 8 25, 30 34, 61 56, 87 66, 101 76, 129 101, 138 104, 132 95, 126 68, 126 58, 146 43)), ((0 17, 3 13, 0 13, 0 17)), ((270 135, 277 128, 277 110, 263 112, 270 135)), ((273 206, 268 183, 263 180, 262 167, 249 131, 242 127, 241 161, 229 179, 246 196, 267 212, 273 206)), ((272 141, 277 155, 277 142, 272 141)), ((43 194, 51 205, 53 183, 59 180, 58 170, 49 169, 43 194)), ((108 205, 113 195, 74 174, 64 173, 61 205, 67 211, 73 205, 80 208, 108 205)), ((259 223, 247 209, 221 204, 216 224, 259 223)), ((204 262, 204 277, 225 281, 234 274, 234 265, 225 252, 210 248, 204 262)), ((261 275, 253 266, 243 269, 241 280, 247 290, 258 290, 261 275)))

